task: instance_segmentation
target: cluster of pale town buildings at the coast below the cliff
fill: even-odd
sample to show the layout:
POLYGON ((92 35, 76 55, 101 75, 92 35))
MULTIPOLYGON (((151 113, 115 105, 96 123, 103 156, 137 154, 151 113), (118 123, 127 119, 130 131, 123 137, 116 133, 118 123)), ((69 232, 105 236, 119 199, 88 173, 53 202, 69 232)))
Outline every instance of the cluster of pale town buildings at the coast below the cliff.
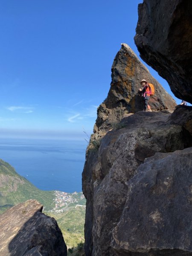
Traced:
POLYGON ((85 209, 86 199, 82 192, 66 193, 55 191, 55 207, 50 212, 64 212, 69 207, 83 207, 85 209))

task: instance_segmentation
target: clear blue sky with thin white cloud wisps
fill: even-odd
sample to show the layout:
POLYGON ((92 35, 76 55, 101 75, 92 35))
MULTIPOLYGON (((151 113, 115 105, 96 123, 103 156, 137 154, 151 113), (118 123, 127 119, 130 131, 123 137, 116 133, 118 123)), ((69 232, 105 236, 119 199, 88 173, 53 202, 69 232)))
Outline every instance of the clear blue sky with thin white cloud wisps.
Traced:
POLYGON ((90 134, 120 44, 139 56, 134 35, 142 2, 1 0, 1 136, 84 137, 82 127, 90 134))

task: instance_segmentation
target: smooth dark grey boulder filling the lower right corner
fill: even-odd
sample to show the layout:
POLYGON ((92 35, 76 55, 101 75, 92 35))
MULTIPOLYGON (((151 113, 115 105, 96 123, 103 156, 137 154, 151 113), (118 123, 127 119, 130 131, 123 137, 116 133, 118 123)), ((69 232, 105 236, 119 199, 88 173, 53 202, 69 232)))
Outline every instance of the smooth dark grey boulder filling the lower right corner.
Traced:
POLYGON ((192 255, 192 148, 156 153, 128 187, 113 230, 116 255, 192 255))

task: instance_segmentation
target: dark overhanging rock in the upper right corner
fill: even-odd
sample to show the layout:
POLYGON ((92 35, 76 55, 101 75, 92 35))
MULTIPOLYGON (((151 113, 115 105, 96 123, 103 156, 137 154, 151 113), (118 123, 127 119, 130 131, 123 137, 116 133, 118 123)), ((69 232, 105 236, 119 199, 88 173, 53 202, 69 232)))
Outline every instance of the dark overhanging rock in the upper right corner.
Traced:
POLYGON ((192 103, 192 1, 144 0, 138 13, 134 40, 141 58, 177 98, 192 103))

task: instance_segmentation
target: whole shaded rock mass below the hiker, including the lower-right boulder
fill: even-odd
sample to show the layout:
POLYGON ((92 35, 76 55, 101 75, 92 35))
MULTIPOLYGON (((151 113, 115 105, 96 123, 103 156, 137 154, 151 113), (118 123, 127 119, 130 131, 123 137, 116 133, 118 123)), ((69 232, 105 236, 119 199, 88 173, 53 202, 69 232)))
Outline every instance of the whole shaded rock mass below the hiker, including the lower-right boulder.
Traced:
POLYGON ((122 122, 87 151, 86 256, 192 256, 192 108, 122 122))

